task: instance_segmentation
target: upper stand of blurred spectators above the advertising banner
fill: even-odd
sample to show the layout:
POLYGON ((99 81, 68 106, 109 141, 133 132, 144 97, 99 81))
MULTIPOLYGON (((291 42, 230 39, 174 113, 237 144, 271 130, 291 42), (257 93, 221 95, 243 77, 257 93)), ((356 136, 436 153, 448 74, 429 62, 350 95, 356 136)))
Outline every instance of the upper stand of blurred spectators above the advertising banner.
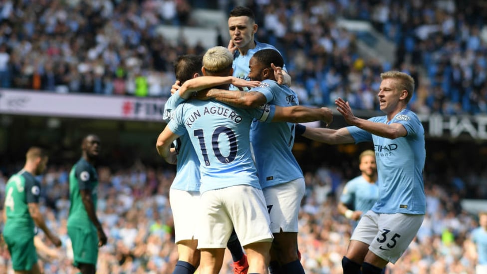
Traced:
MULTIPOLYGON (((456 0, 1 3, 4 88, 168 96, 176 57, 206 49, 184 39, 166 40, 157 26, 194 25, 194 7, 228 12, 243 4, 256 14, 257 39, 283 54, 303 104, 329 105, 341 96, 354 108, 378 109, 379 73, 397 68, 418 82, 411 101, 418 113, 487 112, 486 7, 476 1, 468 1, 468 8, 459 8, 456 0), (362 59, 356 34, 338 27, 338 17, 372 22, 396 44, 396 60, 362 59)), ((227 42, 220 35, 215 44, 227 42)))

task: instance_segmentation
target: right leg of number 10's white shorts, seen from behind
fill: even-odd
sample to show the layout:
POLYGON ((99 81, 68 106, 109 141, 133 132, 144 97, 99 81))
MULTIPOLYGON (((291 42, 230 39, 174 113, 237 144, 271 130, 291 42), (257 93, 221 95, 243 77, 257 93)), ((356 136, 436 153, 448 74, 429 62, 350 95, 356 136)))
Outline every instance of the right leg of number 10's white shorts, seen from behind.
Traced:
POLYGON ((270 219, 262 190, 251 186, 228 188, 226 208, 242 246, 271 242, 270 219))

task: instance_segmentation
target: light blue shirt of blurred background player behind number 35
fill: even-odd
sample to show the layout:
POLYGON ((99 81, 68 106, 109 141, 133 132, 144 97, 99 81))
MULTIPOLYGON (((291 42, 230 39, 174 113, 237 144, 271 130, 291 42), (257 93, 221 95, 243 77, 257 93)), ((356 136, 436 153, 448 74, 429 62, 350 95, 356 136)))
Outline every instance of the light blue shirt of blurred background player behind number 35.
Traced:
POLYGON ((361 175, 348 181, 343 188, 340 202, 353 205, 354 210, 366 213, 379 199, 377 183, 371 184, 361 175))

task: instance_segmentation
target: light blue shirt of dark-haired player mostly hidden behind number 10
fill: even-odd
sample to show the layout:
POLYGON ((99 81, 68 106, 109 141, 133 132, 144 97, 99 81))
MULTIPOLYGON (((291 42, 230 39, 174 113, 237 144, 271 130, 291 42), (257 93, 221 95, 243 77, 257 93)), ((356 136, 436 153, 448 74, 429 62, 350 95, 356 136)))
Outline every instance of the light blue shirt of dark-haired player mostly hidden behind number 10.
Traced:
MULTIPOLYGON (((163 119, 168 122, 171 118, 171 111, 184 101, 185 99, 179 96, 179 92, 171 95, 164 105, 163 119)), ((176 177, 171 184, 171 189, 200 191, 200 160, 188 134, 181 135, 175 141, 175 148, 178 152, 178 163, 176 164, 176 177)))

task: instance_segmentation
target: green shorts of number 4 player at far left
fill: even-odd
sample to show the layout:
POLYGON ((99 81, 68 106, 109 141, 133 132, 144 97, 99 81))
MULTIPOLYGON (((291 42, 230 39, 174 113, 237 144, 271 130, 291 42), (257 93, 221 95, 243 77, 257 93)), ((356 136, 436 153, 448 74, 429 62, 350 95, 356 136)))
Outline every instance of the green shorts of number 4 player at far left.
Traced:
POLYGON ((4 232, 3 238, 7 245, 14 271, 31 271, 33 265, 37 264, 37 253, 35 252, 34 237, 30 234, 12 234, 4 232))

